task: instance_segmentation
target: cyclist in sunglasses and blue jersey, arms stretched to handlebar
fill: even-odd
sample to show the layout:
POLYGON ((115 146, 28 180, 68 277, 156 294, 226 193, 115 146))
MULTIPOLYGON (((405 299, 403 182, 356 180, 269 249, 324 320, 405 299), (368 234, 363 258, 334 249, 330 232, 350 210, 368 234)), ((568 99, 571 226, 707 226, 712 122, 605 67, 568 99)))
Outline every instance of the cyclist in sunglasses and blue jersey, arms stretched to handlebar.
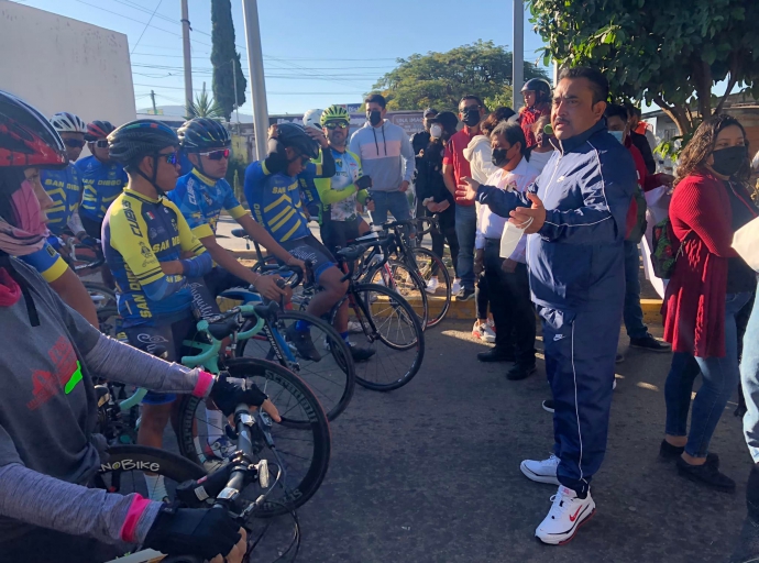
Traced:
POLYGON ((223 209, 254 241, 277 258, 287 265, 304 267, 302 262, 279 246, 272 235, 253 220, 224 179, 231 144, 227 129, 212 119, 195 118, 185 122, 177 134, 182 152, 194 168, 179 178, 176 188, 169 191, 167 197, 179 208, 195 236, 218 264, 206 276, 211 294, 219 295, 230 287, 253 285, 270 299, 279 299, 282 295, 287 295, 289 290, 286 292, 276 285, 279 276, 262 276, 251 272, 216 240, 216 227, 223 209))

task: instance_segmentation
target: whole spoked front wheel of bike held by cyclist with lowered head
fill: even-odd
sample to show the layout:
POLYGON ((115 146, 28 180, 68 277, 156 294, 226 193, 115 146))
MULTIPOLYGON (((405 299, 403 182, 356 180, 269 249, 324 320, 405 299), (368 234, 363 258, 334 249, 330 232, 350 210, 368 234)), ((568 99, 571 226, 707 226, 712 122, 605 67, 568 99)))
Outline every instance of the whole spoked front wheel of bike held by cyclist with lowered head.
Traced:
POLYGON ((403 387, 425 358, 425 334, 414 309, 395 291, 375 284, 355 285, 348 299, 349 324, 361 327, 351 338, 375 351, 367 362, 355 364, 355 383, 380 391, 403 387))

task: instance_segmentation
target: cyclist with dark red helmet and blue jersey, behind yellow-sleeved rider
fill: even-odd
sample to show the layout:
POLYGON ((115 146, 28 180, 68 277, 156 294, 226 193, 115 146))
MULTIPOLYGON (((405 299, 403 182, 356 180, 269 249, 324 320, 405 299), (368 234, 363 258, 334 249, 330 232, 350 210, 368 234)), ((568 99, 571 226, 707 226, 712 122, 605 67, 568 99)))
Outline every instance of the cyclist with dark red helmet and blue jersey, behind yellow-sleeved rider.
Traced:
POLYGON ((100 239, 106 211, 128 181, 123 166, 108 153, 107 137, 114 129, 109 121, 88 123, 85 141, 92 154, 75 165, 82 185, 79 218, 87 234, 95 239, 100 239))

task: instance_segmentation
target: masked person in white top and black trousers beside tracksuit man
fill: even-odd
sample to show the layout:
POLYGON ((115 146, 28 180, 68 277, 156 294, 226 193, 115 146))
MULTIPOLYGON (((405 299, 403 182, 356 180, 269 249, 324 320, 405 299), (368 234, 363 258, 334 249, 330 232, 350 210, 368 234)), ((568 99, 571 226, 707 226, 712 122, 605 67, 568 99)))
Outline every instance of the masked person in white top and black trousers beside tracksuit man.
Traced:
MULTIPOLYGON (((527 142, 518 123, 501 122, 491 133, 493 164, 498 168, 487 179, 488 186, 503 190, 526 191, 538 177, 525 153, 527 142)), ((536 319, 527 277, 527 239, 522 235, 508 258, 501 257, 501 236, 508 219, 488 206, 480 206, 474 242, 484 251, 485 277, 491 292, 495 321, 495 347, 477 354, 481 362, 514 362, 506 374, 512 380, 535 372, 536 319)))

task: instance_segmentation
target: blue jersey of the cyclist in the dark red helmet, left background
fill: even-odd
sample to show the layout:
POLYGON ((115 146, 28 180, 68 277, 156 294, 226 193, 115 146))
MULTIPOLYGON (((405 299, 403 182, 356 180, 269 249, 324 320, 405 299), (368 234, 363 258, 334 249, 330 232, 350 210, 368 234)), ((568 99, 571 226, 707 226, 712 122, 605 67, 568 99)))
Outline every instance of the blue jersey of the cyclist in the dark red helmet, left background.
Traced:
POLYGON ((92 221, 101 221, 109 206, 127 186, 127 173, 120 164, 103 164, 95 156, 77 161, 74 166, 79 172, 84 189, 79 214, 92 221))

